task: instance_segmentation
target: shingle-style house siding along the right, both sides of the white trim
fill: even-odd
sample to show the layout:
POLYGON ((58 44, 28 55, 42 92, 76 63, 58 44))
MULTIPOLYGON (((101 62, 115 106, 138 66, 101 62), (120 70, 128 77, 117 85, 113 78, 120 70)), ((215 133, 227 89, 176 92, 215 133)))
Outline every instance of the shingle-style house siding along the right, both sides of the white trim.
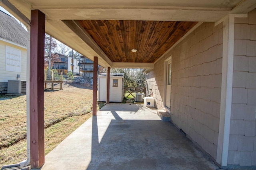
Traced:
MULTIPOLYGON (((216 160, 222 86, 223 22, 202 23, 146 74, 155 106, 165 107, 165 61, 172 57, 170 115, 216 160)), ((235 18, 228 165, 256 166, 256 10, 235 18)), ((169 111, 168 111, 169 112, 169 111)))

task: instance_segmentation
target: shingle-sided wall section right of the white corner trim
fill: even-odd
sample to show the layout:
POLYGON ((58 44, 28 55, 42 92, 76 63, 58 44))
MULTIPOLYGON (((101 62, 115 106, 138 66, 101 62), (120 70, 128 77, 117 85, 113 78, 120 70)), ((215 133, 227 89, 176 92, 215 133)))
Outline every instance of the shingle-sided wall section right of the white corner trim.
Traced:
POLYGON ((256 166, 256 10, 235 18, 228 164, 256 166))

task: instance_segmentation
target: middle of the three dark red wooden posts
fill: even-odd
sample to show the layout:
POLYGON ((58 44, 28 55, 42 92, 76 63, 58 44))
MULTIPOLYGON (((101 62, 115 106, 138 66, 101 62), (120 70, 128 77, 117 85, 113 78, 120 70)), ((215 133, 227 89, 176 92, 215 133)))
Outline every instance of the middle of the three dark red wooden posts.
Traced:
POLYGON ((98 57, 93 59, 92 115, 97 115, 98 57))

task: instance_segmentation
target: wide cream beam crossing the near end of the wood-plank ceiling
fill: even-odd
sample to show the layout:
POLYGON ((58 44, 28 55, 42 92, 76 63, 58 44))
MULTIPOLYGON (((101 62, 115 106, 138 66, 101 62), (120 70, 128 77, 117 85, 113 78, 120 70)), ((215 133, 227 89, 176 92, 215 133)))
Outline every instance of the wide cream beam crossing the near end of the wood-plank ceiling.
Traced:
MULTIPOLYGON (((38 7, 39 8, 39 7, 38 7)), ((154 20, 216 22, 230 8, 42 8, 48 20, 154 20)))

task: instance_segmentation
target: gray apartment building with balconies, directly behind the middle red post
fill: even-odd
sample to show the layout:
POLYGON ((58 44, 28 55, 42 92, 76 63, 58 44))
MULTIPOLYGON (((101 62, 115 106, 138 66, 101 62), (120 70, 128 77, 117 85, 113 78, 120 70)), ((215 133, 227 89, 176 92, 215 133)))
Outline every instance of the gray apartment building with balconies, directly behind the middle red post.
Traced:
MULTIPOLYGON (((80 57, 80 71, 84 77, 93 77, 93 61, 81 55, 80 57)), ((98 74, 106 72, 106 68, 98 65, 98 74)))

